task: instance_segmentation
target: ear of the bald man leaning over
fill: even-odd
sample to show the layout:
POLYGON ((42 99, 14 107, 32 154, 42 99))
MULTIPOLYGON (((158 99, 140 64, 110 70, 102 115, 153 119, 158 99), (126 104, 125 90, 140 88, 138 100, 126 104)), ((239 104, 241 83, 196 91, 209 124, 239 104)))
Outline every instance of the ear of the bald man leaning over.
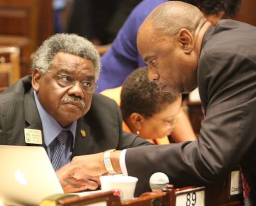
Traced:
POLYGON ((193 51, 195 42, 189 30, 185 28, 180 29, 177 34, 177 40, 180 42, 182 49, 185 50, 185 54, 190 54, 193 51))

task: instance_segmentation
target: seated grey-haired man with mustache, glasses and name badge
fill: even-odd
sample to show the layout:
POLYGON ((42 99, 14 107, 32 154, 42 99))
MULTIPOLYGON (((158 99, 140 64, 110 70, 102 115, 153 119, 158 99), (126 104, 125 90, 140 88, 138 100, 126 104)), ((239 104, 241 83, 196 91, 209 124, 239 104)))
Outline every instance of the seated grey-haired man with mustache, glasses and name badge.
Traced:
POLYGON ((73 156, 149 144, 123 133, 116 102, 93 93, 99 73, 100 56, 91 42, 75 34, 55 34, 36 51, 32 76, 0 94, 0 144, 44 147, 65 192, 96 189, 99 184, 90 176, 81 187, 63 181, 61 166, 73 156), (56 137, 63 130, 68 134, 66 148, 56 161, 56 137))

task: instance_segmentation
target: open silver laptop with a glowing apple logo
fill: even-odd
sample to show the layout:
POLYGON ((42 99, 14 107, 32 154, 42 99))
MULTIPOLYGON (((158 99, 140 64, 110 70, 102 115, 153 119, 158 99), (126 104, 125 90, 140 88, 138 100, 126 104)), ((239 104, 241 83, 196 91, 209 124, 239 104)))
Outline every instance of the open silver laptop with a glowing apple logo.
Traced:
POLYGON ((38 205, 64 193, 43 147, 0 145, 0 202, 38 205))

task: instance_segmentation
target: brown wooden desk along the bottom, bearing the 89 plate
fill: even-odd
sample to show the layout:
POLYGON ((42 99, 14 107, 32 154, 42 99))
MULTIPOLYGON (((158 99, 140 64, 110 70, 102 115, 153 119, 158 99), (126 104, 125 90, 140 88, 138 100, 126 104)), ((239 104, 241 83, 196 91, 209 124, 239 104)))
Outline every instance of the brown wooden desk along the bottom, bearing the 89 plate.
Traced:
POLYGON ((229 191, 229 184, 177 189, 173 188, 173 185, 168 185, 165 189, 145 192, 138 198, 126 201, 121 201, 112 191, 107 191, 83 197, 68 194, 53 195, 43 200, 40 206, 84 206, 92 204, 93 206, 243 206, 241 194, 228 196, 229 191), (182 195, 185 200, 180 200, 182 195))

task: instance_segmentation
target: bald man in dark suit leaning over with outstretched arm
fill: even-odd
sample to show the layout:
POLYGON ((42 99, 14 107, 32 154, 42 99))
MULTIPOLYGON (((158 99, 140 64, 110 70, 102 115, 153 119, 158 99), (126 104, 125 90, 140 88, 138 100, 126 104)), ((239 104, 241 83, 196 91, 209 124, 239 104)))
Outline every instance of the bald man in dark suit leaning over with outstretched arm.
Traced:
MULTIPOLYGON (((256 205, 256 27, 234 20, 212 26, 195 6, 170 1, 145 19, 137 47, 148 78, 164 92, 179 95, 198 86, 205 119, 198 140, 112 152, 114 169, 125 173, 119 164, 125 156, 128 175, 144 183, 137 188, 142 192, 154 172, 166 173, 175 187, 206 185, 239 165, 249 183, 244 200, 256 205)), ((102 155, 73 159, 67 178, 104 173, 102 155), (90 164, 96 160, 102 166, 90 164)))

